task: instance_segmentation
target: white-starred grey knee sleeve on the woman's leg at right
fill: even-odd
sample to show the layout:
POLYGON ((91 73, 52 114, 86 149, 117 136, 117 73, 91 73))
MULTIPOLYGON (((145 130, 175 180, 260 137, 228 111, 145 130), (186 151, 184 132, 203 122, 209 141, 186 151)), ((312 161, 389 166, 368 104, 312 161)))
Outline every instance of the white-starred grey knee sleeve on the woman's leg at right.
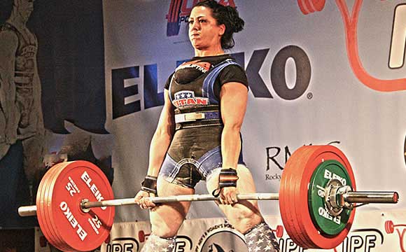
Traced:
POLYGON ((244 235, 249 251, 279 252, 279 243, 267 223, 262 222, 244 235))

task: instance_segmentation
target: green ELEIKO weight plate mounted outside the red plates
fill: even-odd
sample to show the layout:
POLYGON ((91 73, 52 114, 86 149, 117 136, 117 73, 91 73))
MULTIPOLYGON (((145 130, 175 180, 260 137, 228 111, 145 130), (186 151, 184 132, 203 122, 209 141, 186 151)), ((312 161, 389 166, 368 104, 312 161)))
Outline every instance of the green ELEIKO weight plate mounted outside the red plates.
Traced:
POLYGON ((325 160, 316 168, 310 179, 309 211, 311 220, 325 235, 337 235, 344 230, 351 215, 351 209, 343 209, 338 216, 332 216, 325 205, 325 188, 328 182, 337 179, 342 186, 351 186, 346 168, 337 160, 325 160))

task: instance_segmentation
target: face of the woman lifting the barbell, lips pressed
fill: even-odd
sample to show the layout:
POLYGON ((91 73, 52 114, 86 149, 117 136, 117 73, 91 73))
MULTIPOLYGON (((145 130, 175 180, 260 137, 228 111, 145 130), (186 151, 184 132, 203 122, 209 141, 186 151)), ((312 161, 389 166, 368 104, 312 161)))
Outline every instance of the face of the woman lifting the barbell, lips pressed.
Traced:
POLYGON ((224 34, 225 25, 217 25, 211 16, 211 8, 197 6, 193 8, 189 17, 189 39, 193 48, 205 50, 219 45, 224 34))

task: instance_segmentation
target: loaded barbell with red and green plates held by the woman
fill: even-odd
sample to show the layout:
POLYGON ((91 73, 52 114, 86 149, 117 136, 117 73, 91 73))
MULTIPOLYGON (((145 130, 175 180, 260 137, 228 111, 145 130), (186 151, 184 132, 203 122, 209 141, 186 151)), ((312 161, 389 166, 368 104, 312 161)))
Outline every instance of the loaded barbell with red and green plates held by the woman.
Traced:
MULTIPOLYGON (((396 192, 360 192, 349 161, 335 146, 302 146, 286 162, 279 193, 237 195, 238 200, 279 200, 283 226, 302 248, 335 248, 348 234, 355 207, 397 203, 396 192)), ((151 197, 154 203, 218 200, 212 195, 151 197)), ((113 206, 136 204, 113 199, 103 172, 87 161, 62 162, 38 186, 35 206, 20 207, 34 216, 50 244, 62 251, 91 251, 108 242, 113 206)), ((280 228, 279 228, 280 231, 280 228)))

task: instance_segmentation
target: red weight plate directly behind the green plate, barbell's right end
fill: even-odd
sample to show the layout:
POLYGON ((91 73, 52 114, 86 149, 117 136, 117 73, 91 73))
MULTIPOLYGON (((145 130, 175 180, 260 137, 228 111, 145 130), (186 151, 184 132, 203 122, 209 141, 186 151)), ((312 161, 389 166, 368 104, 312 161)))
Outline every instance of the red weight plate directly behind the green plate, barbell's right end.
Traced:
POLYGON ((330 236, 322 235, 321 232, 316 229, 313 221, 311 221, 311 215, 309 213, 307 202, 309 181, 311 180, 311 175, 321 162, 324 160, 337 160, 337 162, 340 162, 346 168, 346 172, 348 172, 351 184, 353 185, 353 190, 356 190, 353 171, 344 153, 334 146, 304 146, 299 150, 304 151, 304 149, 312 149, 313 153, 307 160, 302 162, 302 166, 300 167, 302 169, 302 174, 295 174, 295 180, 300 181, 300 187, 295 188, 293 196, 296 205, 297 223, 300 224, 300 230, 302 230, 305 236, 309 237, 311 242, 314 243, 317 248, 335 248, 341 244, 346 235, 348 235, 353 223, 355 211, 351 211, 349 220, 346 223, 346 228, 339 232, 339 234, 330 236), (300 209, 300 211, 298 211, 298 209, 300 209))

